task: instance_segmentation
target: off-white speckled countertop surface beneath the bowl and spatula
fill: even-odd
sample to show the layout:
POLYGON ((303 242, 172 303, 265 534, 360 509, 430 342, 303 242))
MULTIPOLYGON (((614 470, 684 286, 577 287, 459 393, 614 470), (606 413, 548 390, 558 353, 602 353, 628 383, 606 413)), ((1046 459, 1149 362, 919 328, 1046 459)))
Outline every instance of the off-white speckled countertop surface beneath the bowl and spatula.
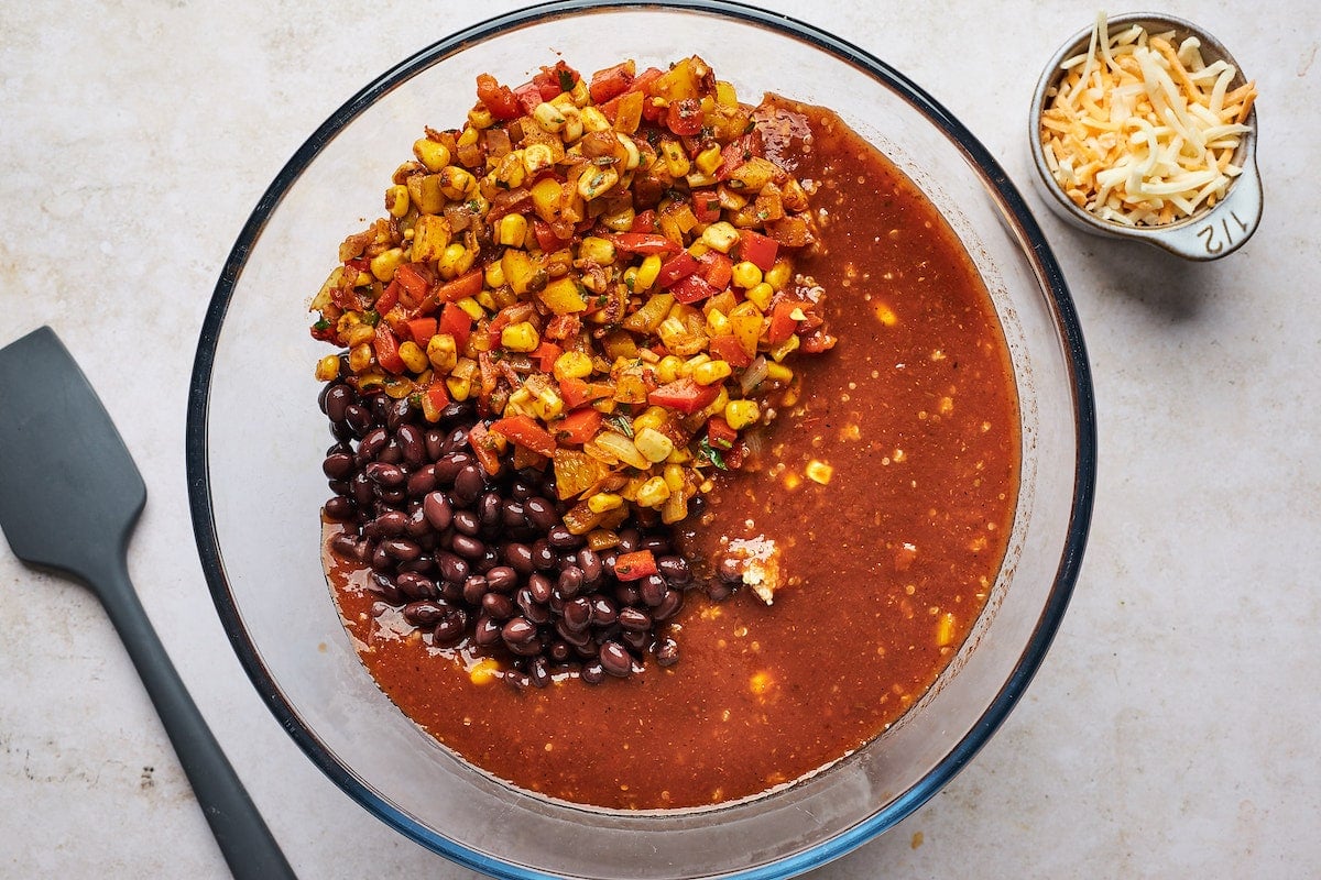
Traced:
MULTIPOLYGON (((1266 219, 1203 265, 1067 230, 1029 191, 1038 67, 1094 4, 765 5, 905 71, 1001 158, 1073 289, 1100 438, 1082 577, 1025 699, 943 793, 811 876, 1321 875, 1317 5, 1161 8, 1218 34, 1262 92, 1266 219)), ((0 5, 0 344, 53 325, 116 418, 149 491, 143 603, 304 877, 473 875, 349 801, 239 668, 189 520, 193 351, 299 144, 404 55, 510 8, 0 5)), ((0 876, 227 876, 91 594, 3 542, 0 682, 0 876)))

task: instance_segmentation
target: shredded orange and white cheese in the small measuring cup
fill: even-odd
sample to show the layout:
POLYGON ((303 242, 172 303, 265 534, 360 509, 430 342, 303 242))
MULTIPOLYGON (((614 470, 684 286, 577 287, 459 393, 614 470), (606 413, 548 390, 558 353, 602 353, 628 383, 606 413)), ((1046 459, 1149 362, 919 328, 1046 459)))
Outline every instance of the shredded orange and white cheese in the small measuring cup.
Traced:
POLYGON ((1205 63, 1201 44, 1115 33, 1096 17, 1087 51, 1061 65, 1046 92, 1041 146, 1065 195, 1098 218, 1157 226, 1192 216, 1225 198, 1256 84, 1230 90, 1229 62, 1205 63))

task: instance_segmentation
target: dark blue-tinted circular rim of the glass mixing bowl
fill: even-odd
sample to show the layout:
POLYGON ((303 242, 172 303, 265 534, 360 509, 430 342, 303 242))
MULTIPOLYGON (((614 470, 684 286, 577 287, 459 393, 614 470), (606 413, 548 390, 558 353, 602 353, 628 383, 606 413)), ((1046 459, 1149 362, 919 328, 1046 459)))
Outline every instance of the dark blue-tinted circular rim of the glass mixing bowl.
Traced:
POLYGON ((807 42, 844 63, 859 67, 872 78, 889 84, 900 92, 906 102, 914 106, 966 154, 971 165, 980 169, 980 174, 985 178, 984 183, 993 189, 995 195, 1003 206, 1003 219, 1016 227, 1015 235, 1021 243, 1024 255, 1033 264, 1034 274, 1048 294, 1048 306, 1054 311, 1055 325, 1061 332, 1059 342, 1063 348, 1066 369, 1071 379, 1077 458, 1074 462, 1070 519, 1065 530, 1065 542, 1054 583, 1041 610, 1037 625, 1016 661, 1013 672, 1000 686, 1000 690, 987 705, 968 734, 955 743, 945 757, 925 776, 906 792, 900 793, 888 806, 878 809, 845 831, 819 840, 811 847, 793 855, 753 868, 721 875, 738 880, 787 877, 819 867, 855 850, 914 813, 963 769, 1000 727, 1013 706, 1018 703, 1024 689, 1040 668, 1063 617, 1082 563, 1095 495, 1096 427, 1091 372, 1078 314, 1063 273, 1050 251, 1046 237, 1018 190, 987 148, 926 91, 880 58, 801 20, 733 0, 666 0, 662 3, 552 0, 494 16, 458 30, 416 51, 373 79, 336 110, 280 169, 244 222, 222 267, 202 323, 189 387, 185 463, 193 530, 213 602, 240 665, 266 702, 267 708, 316 767, 369 813, 373 813, 404 836, 452 862, 509 880, 552 880, 552 875, 535 868, 510 864, 498 858, 472 850, 400 813, 347 772, 332 753, 322 748, 310 731, 303 728, 299 716, 284 701, 279 683, 262 664, 256 645, 251 643, 244 631, 242 616, 227 582, 222 563, 219 536, 213 517, 211 486, 207 468, 207 410, 217 343, 221 338, 222 325, 234 296, 235 285, 254 244, 260 237, 268 218, 279 206, 285 193, 342 128, 395 86, 470 44, 514 28, 531 25, 536 20, 548 16, 567 17, 581 12, 629 9, 712 15, 733 18, 738 24, 775 30, 787 37, 807 42))

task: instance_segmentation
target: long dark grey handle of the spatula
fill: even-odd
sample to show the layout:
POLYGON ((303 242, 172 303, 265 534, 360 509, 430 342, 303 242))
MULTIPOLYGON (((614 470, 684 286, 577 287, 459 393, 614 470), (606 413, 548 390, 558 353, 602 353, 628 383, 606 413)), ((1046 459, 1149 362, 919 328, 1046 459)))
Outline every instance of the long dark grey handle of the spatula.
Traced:
POLYGON ((262 821, 243 782, 221 751, 165 653, 165 646, 152 629, 123 559, 89 579, 156 705, 230 872, 236 880, 295 877, 271 830, 262 821))

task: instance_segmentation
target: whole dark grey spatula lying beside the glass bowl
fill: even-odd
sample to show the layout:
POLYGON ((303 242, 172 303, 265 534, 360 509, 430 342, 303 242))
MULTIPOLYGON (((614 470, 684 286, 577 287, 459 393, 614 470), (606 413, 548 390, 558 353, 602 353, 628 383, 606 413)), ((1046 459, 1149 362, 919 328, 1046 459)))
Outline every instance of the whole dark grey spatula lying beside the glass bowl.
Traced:
POLYGON ((128 536, 145 503, 119 431, 54 331, 41 327, 0 348, 0 529, 9 546, 100 599, 234 876, 293 877, 128 581, 128 536))

